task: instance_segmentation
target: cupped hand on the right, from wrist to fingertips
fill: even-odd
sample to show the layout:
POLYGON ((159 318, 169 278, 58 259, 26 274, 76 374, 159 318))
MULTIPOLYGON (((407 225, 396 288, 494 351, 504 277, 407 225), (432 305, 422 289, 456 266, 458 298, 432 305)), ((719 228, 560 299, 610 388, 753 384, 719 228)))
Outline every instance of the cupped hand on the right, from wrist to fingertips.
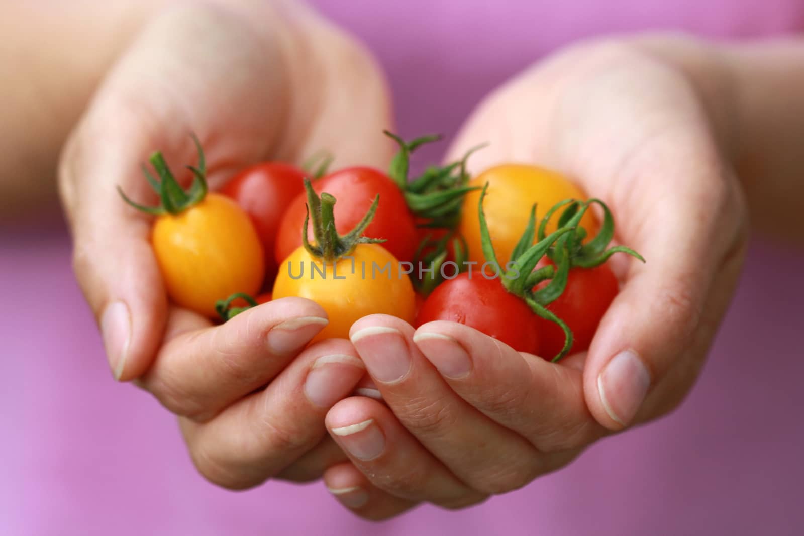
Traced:
POLYGON ((747 222, 722 88, 701 87, 664 49, 662 39, 573 47, 470 117, 453 158, 488 141, 472 170, 526 162, 568 174, 647 262, 616 260, 621 292, 589 351, 559 364, 450 322, 355 324, 351 340, 388 407, 353 397, 326 417, 350 456, 325 474, 344 505, 386 518, 420 501, 474 504, 686 395, 736 286, 747 222))

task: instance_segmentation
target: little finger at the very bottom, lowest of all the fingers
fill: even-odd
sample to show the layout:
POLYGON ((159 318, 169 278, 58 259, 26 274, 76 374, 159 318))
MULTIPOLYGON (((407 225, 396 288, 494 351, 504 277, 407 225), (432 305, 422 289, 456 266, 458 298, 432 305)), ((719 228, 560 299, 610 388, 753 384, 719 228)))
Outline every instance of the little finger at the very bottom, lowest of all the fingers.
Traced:
POLYGON ((393 518, 417 504, 375 488, 351 462, 327 468, 324 484, 338 502, 371 521, 393 518))

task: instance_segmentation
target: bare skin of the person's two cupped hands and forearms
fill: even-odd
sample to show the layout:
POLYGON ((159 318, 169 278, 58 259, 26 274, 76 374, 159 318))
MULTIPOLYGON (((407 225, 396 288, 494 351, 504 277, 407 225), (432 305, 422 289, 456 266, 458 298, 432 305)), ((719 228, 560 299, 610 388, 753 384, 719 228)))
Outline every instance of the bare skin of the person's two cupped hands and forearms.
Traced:
POLYGON ((559 51, 498 88, 450 151, 454 159, 490 141, 470 161, 475 172, 531 162, 577 178, 612 208, 617 239, 646 256, 644 266, 614 264, 623 287, 588 354, 556 366, 466 326, 413 330, 383 316, 358 321, 351 342, 305 348, 326 315, 297 298, 213 328, 168 307, 146 240, 150 220, 115 208, 116 184, 137 195, 137 165, 154 148, 171 161, 192 158, 190 129, 209 148, 213 186, 266 158, 299 162, 326 147, 340 158, 334 166, 384 169, 393 150, 376 135, 392 121, 375 63, 297 2, 281 15, 279 6, 285 2, 187 2, 164 11, 148 2, 71 3, 75 26, 59 18, 47 42, 26 38, 39 35, 32 27, 47 28, 41 15, 25 18, 27 8, 13 5, 5 18, 6 41, 27 54, 0 61, 12 88, 0 125, 15 134, 0 144, 0 198, 30 207, 29 192, 52 192, 53 164, 72 131, 60 194, 76 276, 113 371, 138 378, 179 415, 210 481, 242 489, 324 473, 338 501, 369 519, 421 501, 459 508, 526 485, 598 437, 679 403, 736 284, 748 213, 757 229, 804 244, 804 44, 613 38, 559 51), (29 22, 14 27, 21 19, 29 22), (76 46, 85 54, 72 54, 76 46), (54 61, 54 53, 81 63, 54 61), (21 65, 19 57, 42 60, 21 65), (224 68, 253 76, 220 77, 224 68), (58 112, 34 121, 43 103, 58 112), (118 303, 130 319, 124 329, 104 321, 118 303), (648 388, 635 388, 638 374, 630 374, 604 397, 601 372, 621 350, 634 350, 629 362, 647 367, 648 388), (456 375, 454 363, 439 358, 461 351, 470 370, 456 375), (399 373, 390 380, 379 366, 389 356, 399 373), (387 405, 344 399, 364 366, 387 405), (371 441, 355 448, 372 433, 373 452, 371 441))

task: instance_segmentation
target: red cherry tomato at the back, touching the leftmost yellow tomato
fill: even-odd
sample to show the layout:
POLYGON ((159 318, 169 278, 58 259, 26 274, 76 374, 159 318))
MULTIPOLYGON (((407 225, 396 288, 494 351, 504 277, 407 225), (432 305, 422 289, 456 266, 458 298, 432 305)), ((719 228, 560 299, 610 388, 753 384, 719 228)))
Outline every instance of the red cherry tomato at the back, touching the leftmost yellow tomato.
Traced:
POLYGON ((306 173, 296 166, 263 162, 240 171, 221 191, 251 216, 265 249, 265 284, 269 287, 277 275, 273 250, 279 224, 285 209, 304 191, 305 176, 306 173))

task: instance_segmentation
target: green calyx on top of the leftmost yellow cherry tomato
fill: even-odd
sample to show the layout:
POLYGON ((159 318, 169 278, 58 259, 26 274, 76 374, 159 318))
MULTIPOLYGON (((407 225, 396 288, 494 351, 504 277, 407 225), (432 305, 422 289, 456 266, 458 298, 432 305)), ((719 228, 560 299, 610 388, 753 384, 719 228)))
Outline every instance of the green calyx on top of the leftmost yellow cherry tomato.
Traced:
POLYGON ((129 199, 120 186, 117 186, 117 191, 120 193, 123 201, 128 203, 130 207, 136 208, 137 211, 145 212, 150 215, 177 215, 186 211, 190 207, 194 207, 203 201, 207 196, 207 170, 206 162, 204 161, 203 149, 201 149, 201 142, 195 134, 192 135, 195 142, 195 148, 199 153, 198 166, 187 166, 194 175, 193 182, 189 190, 183 190, 178 182, 170 172, 170 167, 167 165, 162 153, 156 152, 151 155, 150 163, 154 166, 158 178, 155 178, 150 173, 146 166, 142 166, 142 173, 145 174, 151 188, 159 196, 159 205, 157 207, 146 207, 134 203, 129 199))

